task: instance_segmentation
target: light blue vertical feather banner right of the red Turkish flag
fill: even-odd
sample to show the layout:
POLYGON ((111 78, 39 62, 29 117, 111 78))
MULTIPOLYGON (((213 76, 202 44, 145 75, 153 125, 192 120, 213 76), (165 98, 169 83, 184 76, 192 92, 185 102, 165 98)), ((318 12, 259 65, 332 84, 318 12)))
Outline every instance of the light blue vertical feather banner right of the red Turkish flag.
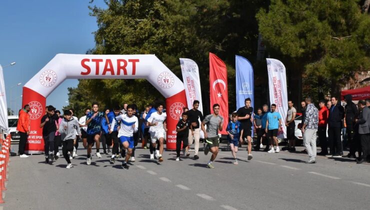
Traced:
MULTIPOLYGON (((253 67, 245 57, 235 55, 236 110, 244 106, 245 98, 251 99, 254 108, 253 67)), ((254 111, 254 110, 253 110, 254 111)))

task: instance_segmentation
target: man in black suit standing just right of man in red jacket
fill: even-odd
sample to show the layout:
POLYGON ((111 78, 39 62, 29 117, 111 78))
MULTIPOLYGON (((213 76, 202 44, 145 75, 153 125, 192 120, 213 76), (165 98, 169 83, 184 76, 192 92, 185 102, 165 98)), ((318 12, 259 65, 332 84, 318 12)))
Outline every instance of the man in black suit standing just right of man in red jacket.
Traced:
POLYGON ((338 104, 336 97, 331 97, 331 107, 329 108, 329 117, 327 119, 330 153, 327 157, 341 157, 343 153, 340 132, 342 119, 344 118, 344 108, 338 104))

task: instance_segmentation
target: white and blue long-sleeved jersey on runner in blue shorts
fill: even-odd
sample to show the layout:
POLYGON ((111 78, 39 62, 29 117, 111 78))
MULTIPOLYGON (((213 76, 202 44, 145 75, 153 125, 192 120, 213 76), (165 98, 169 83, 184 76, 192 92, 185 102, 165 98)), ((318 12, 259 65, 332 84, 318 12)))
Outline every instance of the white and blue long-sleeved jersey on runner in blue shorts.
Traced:
MULTIPOLYGON (((121 121, 121 125, 118 131, 118 137, 126 136, 131 137, 133 136, 134 132, 137 132, 138 127, 138 120, 137 117, 132 115, 131 117, 127 116, 127 114, 121 114, 113 118, 112 124, 115 124, 116 121, 121 121), (132 125, 135 125, 133 128, 132 125)), ((110 130, 113 131, 114 127, 111 126, 110 130)))

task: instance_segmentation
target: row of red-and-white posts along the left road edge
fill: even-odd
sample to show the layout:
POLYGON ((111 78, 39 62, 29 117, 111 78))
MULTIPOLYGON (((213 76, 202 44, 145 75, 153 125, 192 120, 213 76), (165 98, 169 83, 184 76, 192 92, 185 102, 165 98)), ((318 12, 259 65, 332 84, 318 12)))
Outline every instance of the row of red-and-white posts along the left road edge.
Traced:
POLYGON ((0 137, 0 203, 4 203, 2 192, 6 190, 5 181, 7 181, 7 166, 9 162, 9 151, 10 151, 10 134, 4 135, 1 133, 0 137))

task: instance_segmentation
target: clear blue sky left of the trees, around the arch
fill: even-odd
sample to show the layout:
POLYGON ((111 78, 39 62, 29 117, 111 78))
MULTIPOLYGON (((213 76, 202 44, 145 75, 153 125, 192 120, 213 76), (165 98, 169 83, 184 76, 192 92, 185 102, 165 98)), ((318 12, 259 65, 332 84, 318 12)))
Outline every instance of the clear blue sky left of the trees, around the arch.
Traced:
MULTIPOLYGON (((85 54, 95 46, 97 23, 88 5, 106 8, 103 0, 0 1, 0 64, 16 62, 3 69, 7 107, 21 108, 22 86, 57 53, 85 54)), ((62 112, 68 105, 67 88, 77 84, 77 79, 65 80, 46 105, 62 112)))

